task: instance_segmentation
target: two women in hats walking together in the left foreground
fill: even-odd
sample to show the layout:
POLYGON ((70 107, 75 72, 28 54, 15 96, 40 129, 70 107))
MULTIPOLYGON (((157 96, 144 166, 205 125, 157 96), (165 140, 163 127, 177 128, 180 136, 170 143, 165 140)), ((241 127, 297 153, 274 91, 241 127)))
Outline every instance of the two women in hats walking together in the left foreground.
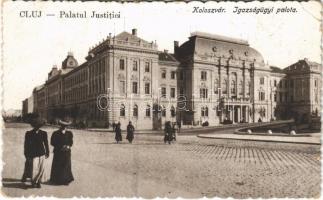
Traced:
MULTIPOLYGON (((54 147, 50 182, 55 185, 68 185, 74 180, 71 168, 71 147, 73 133, 67 130, 71 122, 59 120, 60 128, 53 132, 50 144, 54 147)), ((24 155, 26 158, 22 182, 31 180, 31 186, 41 188, 41 183, 47 181, 45 173, 45 159, 49 157, 47 132, 40 128, 44 121, 40 118, 32 119, 32 130, 25 134, 24 155)))

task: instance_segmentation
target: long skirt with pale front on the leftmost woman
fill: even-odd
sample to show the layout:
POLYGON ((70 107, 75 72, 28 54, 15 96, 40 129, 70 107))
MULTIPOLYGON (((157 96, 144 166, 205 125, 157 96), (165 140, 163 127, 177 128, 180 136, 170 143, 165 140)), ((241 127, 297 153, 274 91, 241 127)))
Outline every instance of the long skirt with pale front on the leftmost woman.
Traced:
POLYGON ((26 159, 23 178, 31 178, 33 183, 47 181, 45 174, 45 155, 26 159))

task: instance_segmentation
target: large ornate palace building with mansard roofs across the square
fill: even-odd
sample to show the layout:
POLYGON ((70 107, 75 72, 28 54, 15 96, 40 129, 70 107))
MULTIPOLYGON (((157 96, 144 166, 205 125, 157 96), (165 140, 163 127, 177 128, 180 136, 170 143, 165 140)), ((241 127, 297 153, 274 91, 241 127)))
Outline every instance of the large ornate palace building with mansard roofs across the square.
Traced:
POLYGON ((33 112, 49 123, 69 116, 88 127, 132 121, 137 129, 160 129, 165 121, 306 121, 320 115, 320 88, 320 64, 307 59, 268 66, 247 41, 202 32, 174 41, 171 54, 133 29, 110 34, 82 64, 69 53, 32 100, 33 112))

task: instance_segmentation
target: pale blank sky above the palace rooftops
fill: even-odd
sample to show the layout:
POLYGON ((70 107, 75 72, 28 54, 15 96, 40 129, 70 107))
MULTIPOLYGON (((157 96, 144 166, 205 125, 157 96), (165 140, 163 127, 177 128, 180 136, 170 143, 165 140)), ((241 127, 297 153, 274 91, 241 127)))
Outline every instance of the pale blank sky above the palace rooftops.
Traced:
MULTIPOLYGON (((46 81, 53 65, 61 66, 72 51, 79 63, 89 47, 109 33, 131 32, 156 41, 159 50, 173 51, 191 32, 202 31, 247 40, 266 63, 284 68, 300 59, 321 63, 319 2, 251 3, 100 3, 100 2, 5 2, 3 8, 3 108, 21 109, 22 100, 46 81), (192 13, 200 8, 224 8, 225 13, 192 13), (296 13, 234 14, 235 7, 293 7, 296 13), (40 18, 20 17, 21 11, 41 11, 40 18), (61 11, 120 12, 120 19, 59 18, 61 11), (46 16, 55 14, 55 16, 46 16)), ((89 16, 88 16, 89 17, 89 16)))

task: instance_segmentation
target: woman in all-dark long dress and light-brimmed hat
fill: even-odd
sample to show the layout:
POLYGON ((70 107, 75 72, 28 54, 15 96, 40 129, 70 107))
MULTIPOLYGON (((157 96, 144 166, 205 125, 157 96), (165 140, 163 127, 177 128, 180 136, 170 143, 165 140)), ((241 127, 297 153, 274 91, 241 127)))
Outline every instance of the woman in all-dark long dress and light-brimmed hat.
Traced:
POLYGON ((71 147, 73 145, 73 133, 67 130, 70 121, 58 121, 60 129, 54 131, 51 137, 51 145, 54 147, 54 157, 50 181, 55 185, 68 185, 74 181, 72 174, 71 147))

